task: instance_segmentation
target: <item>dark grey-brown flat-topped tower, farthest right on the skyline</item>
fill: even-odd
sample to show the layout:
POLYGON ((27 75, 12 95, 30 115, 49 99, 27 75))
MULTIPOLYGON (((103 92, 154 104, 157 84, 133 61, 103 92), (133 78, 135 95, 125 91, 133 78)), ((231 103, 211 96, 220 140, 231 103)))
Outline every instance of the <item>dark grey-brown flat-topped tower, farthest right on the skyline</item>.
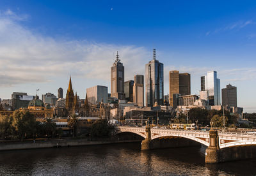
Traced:
POLYGON ((237 107, 236 86, 228 84, 226 88, 221 89, 222 106, 237 107))

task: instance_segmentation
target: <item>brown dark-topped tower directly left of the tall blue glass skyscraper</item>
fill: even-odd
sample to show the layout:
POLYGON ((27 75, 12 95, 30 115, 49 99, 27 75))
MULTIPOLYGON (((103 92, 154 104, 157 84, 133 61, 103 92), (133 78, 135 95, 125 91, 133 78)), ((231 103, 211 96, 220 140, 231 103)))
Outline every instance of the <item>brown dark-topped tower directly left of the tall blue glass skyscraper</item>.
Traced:
POLYGON ((133 84, 133 102, 136 105, 144 106, 144 76, 135 75, 133 84))

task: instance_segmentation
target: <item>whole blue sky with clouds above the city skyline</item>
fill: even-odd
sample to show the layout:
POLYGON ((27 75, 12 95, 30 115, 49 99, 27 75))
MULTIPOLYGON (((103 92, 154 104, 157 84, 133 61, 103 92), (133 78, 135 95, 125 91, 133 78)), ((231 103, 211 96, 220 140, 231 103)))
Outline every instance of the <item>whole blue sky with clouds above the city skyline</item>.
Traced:
MULTIPOLYGON (((218 71, 221 88, 237 86, 238 106, 256 112, 255 1, 0 1, 0 98, 110 86, 116 50, 125 80, 152 59, 168 71, 200 76, 218 71)), ((110 87, 109 87, 110 88, 110 87)))

